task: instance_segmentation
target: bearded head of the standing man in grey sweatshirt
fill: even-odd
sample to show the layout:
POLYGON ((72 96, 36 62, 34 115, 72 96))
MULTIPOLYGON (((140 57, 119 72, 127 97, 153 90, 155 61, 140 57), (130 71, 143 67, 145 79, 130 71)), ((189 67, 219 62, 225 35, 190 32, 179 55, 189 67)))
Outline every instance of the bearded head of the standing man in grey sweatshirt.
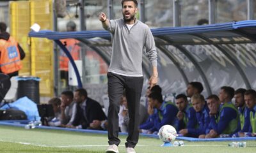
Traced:
POLYGON ((138 8, 133 1, 125 1, 123 4, 123 17, 126 22, 134 20, 138 8))

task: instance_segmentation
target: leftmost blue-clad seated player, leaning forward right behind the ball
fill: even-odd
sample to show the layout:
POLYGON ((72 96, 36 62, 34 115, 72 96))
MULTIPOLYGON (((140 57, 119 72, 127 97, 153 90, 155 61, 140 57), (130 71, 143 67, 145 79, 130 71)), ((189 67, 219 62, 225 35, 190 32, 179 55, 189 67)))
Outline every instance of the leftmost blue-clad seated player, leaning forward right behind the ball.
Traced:
MULTIPOLYGON (((151 126, 147 127, 148 133, 157 133, 166 124, 177 128, 178 120, 176 114, 178 108, 173 103, 164 101, 160 92, 151 92, 148 95, 148 105, 157 109, 157 112, 151 117, 151 126)), ((142 124, 140 129, 145 129, 145 126, 142 124)))

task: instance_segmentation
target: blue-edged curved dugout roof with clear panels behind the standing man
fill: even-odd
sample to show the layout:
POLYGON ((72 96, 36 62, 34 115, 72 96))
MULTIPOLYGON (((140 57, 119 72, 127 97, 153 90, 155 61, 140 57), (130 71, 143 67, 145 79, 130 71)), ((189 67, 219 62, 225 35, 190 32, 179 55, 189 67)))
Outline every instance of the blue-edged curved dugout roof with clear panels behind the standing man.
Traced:
MULTIPOLYGON (((223 85, 256 89, 256 20, 193 27, 151 29, 159 52, 159 85, 166 93, 185 92, 188 82, 204 84, 204 94, 217 94, 223 85)), ((109 64, 108 31, 31 31, 31 37, 75 38, 95 50, 109 64)), ((145 77, 150 63, 143 57, 145 77)))

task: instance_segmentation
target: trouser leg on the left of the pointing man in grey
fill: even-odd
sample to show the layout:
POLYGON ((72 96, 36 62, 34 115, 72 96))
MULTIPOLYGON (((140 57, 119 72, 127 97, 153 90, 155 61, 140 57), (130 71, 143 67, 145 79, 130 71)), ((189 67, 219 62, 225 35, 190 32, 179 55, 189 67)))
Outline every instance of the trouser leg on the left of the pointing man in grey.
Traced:
POLYGON ((108 73, 108 139, 109 145, 119 145, 118 139, 118 112, 120 109, 120 100, 124 92, 124 77, 113 73, 108 73))

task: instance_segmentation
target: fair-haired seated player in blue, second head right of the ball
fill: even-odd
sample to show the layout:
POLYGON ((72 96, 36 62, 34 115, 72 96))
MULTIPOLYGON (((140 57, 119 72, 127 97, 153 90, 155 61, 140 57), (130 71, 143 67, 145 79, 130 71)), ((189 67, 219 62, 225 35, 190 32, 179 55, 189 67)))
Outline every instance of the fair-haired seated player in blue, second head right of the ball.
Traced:
POLYGON ((184 136, 190 135, 193 137, 200 137, 200 135, 205 134, 205 131, 208 128, 210 122, 209 110, 207 106, 205 106, 205 100, 202 94, 194 94, 191 98, 191 101, 196 112, 198 127, 181 129, 179 133, 184 136))

